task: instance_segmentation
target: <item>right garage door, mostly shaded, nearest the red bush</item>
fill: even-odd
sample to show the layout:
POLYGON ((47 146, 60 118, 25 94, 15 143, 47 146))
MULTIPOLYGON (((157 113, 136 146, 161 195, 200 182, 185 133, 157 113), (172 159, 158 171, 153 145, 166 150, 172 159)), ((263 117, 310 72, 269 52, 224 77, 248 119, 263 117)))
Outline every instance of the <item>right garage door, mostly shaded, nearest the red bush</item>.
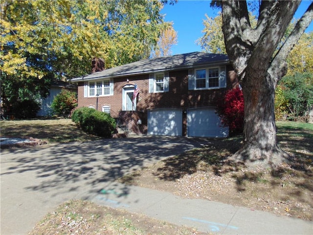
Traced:
POLYGON ((199 108, 187 112, 188 136, 227 137, 228 127, 221 124, 221 119, 214 109, 199 108))

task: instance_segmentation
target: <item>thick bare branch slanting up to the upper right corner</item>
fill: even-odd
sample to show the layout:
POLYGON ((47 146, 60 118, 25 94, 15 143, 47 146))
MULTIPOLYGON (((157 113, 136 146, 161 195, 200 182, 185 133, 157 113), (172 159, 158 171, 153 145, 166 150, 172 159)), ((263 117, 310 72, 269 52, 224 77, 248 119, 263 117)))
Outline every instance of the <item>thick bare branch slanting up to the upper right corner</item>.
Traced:
POLYGON ((278 82, 287 73, 286 59, 289 55, 289 52, 291 51, 292 47, 298 42, 306 28, 311 24, 312 20, 313 2, 310 4, 301 19, 294 26, 291 34, 286 39, 283 46, 279 49, 269 67, 268 71, 272 75, 272 77, 275 77, 277 79, 276 82, 278 82))

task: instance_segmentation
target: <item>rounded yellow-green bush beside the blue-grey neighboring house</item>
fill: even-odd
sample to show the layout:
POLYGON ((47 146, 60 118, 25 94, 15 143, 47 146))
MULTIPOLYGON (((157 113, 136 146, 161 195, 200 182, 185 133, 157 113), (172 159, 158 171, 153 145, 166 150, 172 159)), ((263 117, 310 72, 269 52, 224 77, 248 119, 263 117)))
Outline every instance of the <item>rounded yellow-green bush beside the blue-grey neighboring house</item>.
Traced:
POLYGON ((77 104, 77 94, 62 89, 62 91, 54 97, 51 108, 58 116, 67 118, 70 112, 77 107, 77 104))

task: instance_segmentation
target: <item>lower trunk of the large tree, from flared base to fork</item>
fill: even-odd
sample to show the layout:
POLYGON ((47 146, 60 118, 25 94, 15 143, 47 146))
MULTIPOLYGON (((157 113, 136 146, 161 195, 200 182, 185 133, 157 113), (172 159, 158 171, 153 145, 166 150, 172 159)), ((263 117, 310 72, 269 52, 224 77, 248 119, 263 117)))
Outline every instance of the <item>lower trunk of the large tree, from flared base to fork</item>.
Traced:
POLYGON ((268 73, 246 71, 242 82, 245 100, 244 141, 231 160, 247 167, 268 168, 286 162, 289 155, 276 141, 275 80, 268 73))

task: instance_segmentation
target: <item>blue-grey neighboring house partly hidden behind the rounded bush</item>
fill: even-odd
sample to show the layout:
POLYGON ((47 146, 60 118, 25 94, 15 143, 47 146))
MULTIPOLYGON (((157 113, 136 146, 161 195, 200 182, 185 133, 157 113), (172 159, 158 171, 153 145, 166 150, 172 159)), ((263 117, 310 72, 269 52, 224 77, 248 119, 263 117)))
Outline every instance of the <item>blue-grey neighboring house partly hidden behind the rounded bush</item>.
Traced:
POLYGON ((40 99, 41 110, 37 112, 37 117, 52 115, 52 101, 54 97, 62 91, 62 89, 67 89, 69 91, 77 93, 77 86, 75 84, 70 84, 64 81, 53 81, 50 87, 49 95, 46 98, 40 99))

